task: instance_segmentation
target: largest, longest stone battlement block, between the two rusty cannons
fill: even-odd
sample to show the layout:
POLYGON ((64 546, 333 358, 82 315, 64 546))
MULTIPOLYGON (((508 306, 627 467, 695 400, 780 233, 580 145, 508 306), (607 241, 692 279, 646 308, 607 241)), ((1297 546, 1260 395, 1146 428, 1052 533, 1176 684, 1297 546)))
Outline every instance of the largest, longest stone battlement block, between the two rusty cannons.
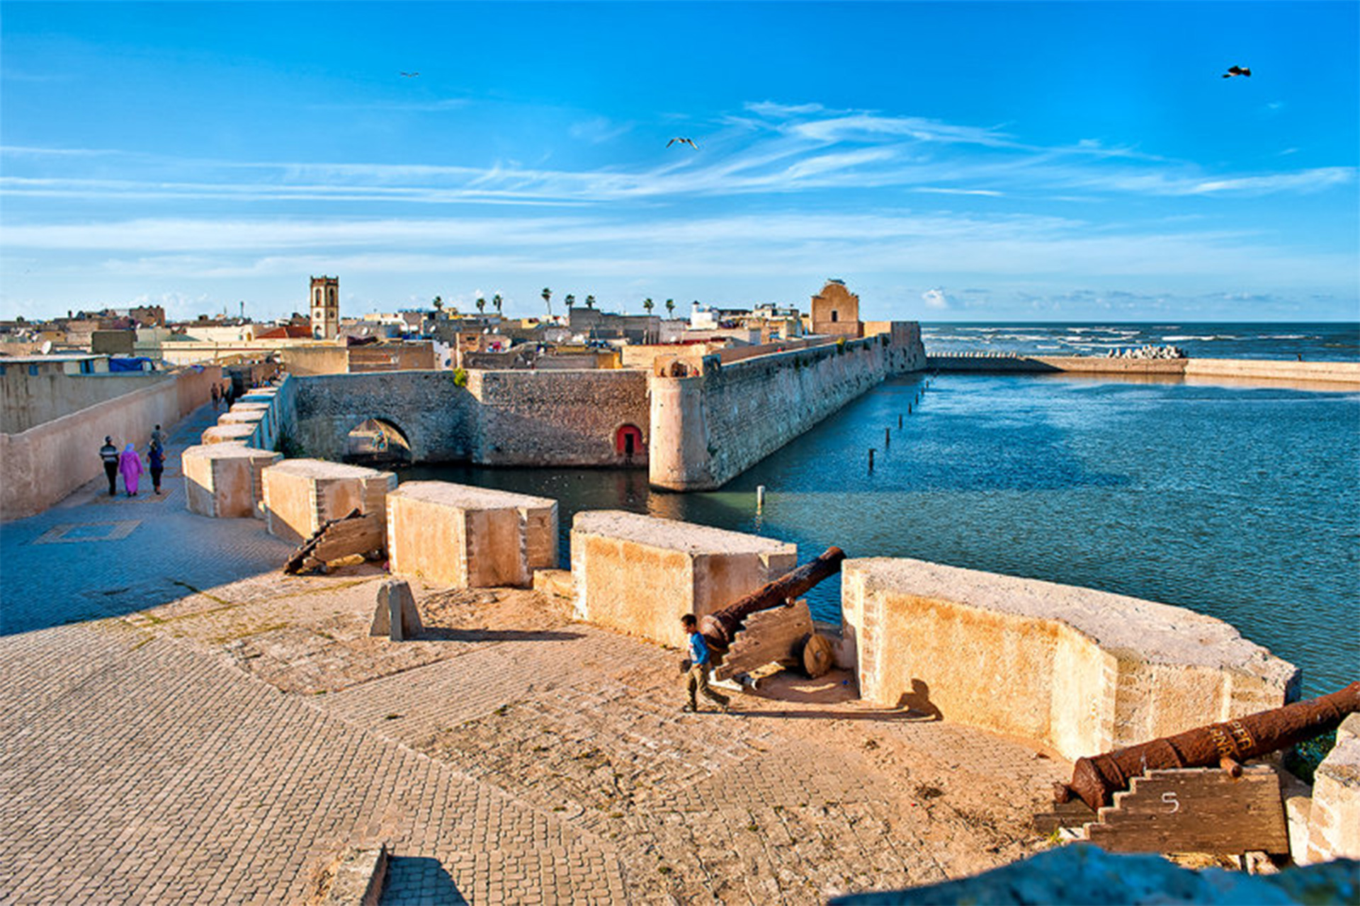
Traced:
POLYGON ((1180 607, 919 560, 847 560, 843 570, 861 695, 906 695, 1068 758, 1297 694, 1292 664, 1180 607))

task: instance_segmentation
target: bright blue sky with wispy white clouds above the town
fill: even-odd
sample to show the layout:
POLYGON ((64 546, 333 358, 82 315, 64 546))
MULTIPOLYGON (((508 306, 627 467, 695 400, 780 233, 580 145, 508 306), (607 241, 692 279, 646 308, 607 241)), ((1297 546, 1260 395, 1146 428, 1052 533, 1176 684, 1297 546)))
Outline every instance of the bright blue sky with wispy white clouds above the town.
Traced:
POLYGON ((0 316, 1356 319, 1357 10, 5 1, 0 316))

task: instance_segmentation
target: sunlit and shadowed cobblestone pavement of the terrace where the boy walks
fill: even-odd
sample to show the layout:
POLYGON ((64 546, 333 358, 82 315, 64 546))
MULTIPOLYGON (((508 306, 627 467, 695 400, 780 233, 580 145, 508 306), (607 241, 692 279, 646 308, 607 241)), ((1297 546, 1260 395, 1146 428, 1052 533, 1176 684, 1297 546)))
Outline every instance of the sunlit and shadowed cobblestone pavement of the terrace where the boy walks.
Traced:
POLYGON ((840 675, 681 714, 670 653, 536 592, 413 583, 393 645, 377 570, 282 576, 170 474, 0 527, 0 901, 306 902, 381 841, 385 903, 812 903, 1031 852, 1068 769, 840 675))

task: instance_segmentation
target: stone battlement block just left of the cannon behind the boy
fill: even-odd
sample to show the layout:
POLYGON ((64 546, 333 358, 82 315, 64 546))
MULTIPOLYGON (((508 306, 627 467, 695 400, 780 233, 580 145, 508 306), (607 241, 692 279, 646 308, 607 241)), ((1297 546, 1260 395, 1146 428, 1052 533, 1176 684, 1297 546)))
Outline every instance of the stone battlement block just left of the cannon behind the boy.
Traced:
POLYGON ((771 538, 620 511, 571 524, 575 615, 684 645, 680 617, 702 617, 798 565, 798 547, 771 538))

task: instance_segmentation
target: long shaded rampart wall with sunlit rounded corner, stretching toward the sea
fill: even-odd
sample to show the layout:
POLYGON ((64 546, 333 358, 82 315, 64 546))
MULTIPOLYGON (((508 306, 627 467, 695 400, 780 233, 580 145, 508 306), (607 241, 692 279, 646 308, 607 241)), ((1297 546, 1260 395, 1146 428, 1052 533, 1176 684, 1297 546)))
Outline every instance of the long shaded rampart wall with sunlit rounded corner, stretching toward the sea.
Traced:
POLYGON ((658 360, 650 383, 653 486, 719 488, 888 375, 923 368, 919 327, 894 327, 730 364, 706 356, 692 376, 670 376, 658 360))

